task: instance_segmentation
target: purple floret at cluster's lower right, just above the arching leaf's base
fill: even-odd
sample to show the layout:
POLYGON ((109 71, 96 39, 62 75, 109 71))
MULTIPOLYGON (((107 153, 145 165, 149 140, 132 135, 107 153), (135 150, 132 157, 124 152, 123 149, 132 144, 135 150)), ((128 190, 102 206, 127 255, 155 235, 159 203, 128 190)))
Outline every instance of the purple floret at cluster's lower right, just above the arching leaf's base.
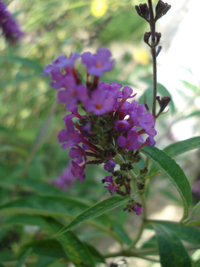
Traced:
POLYGON ((138 142, 138 135, 134 130, 128 132, 127 138, 120 135, 118 137, 118 144, 120 147, 126 147, 127 150, 135 150, 140 146, 140 143, 138 142))

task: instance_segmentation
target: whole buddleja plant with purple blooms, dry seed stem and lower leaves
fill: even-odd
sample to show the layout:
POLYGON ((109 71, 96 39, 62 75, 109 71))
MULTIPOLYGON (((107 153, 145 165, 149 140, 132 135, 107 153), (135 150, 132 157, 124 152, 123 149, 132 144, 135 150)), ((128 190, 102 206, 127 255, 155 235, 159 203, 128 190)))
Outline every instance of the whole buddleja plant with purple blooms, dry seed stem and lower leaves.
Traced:
MULTIPOLYGON (((33 221, 34 225, 44 230, 37 235, 36 241, 22 246, 18 263, 8 263, 11 266, 15 263, 15 266, 21 266, 25 262, 27 266, 40 267, 49 266, 56 261, 59 262, 58 265, 53 266, 73 263, 77 267, 95 267, 101 262, 105 263, 106 259, 115 257, 120 257, 121 260, 114 260, 110 265, 112 267, 126 266, 128 260, 126 262, 124 257, 160 262, 163 267, 200 265, 200 260, 193 262, 190 257, 190 251, 200 248, 200 232, 197 228, 188 226, 200 224, 200 220, 196 219, 200 204, 193 208, 188 217, 190 185, 183 170, 173 159, 198 147, 200 137, 174 143, 163 151, 156 147, 154 140, 154 136, 159 135, 156 132, 156 120, 170 101, 169 96, 160 98, 157 95, 156 57, 161 51, 161 34, 156 32, 155 24, 167 13, 170 5, 159 0, 154 12, 152 1, 148 0, 148 5, 140 4, 135 9, 150 24, 150 32, 144 34, 144 42, 151 49, 153 62, 152 110, 147 102, 138 104, 131 87, 122 87, 121 83, 115 81, 109 84, 99 81, 100 77, 103 80, 104 73, 114 65, 111 52, 105 47, 99 48, 95 54, 84 52, 71 53, 69 57, 59 55, 52 64, 45 67, 43 75, 50 75, 50 84, 58 90, 58 99, 67 110, 63 118, 65 129, 60 131, 58 139, 62 143, 62 149, 69 149, 71 158, 54 184, 68 189, 76 179, 85 183, 84 180, 92 179, 85 175, 85 169, 90 170, 91 165, 103 164, 107 175, 102 183, 99 182, 99 187, 104 187, 105 193, 108 190, 110 197, 90 205, 87 201, 56 191, 52 185, 36 181, 28 185, 25 179, 21 181, 30 187, 37 187, 40 194, 2 205, 1 211, 5 215, 11 214, 4 222, 16 221, 32 225, 33 221), (85 68, 86 81, 76 69, 77 61, 85 68), (156 110, 156 103, 159 110, 156 110), (161 172, 172 181, 180 194, 183 204, 180 221, 150 220, 147 216, 147 181, 151 183, 151 178, 161 172), (49 195, 42 194, 43 189, 48 189, 46 191, 49 195), (123 226, 107 213, 116 207, 126 216, 130 213, 128 215, 140 218, 138 228, 132 225, 132 232, 136 233, 134 239, 132 232, 127 234, 123 226), (16 213, 21 213, 21 216, 16 213), (71 220, 67 225, 65 218, 71 220), (101 254, 75 233, 74 228, 82 223, 115 239, 120 245, 119 250, 101 254), (152 229, 154 236, 139 247, 138 241, 145 228, 152 229), (187 243, 183 245, 182 241, 187 243)), ((8 264, 5 266, 10 266, 8 264)))

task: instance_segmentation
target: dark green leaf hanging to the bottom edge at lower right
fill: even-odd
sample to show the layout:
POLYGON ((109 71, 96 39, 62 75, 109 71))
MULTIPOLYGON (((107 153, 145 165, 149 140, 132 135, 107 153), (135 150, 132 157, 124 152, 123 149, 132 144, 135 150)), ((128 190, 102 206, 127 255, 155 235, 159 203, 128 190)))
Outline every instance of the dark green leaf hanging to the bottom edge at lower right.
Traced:
POLYGON ((189 255, 177 235, 158 223, 153 224, 153 228, 162 267, 191 267, 189 255))

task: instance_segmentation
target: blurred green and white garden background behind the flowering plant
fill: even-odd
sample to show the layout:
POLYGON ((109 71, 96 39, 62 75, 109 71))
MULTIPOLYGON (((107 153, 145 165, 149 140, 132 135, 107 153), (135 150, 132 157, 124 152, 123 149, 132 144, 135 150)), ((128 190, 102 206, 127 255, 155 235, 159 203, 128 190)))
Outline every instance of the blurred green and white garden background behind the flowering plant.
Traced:
MULTIPOLYGON (((136 100, 140 103, 148 101, 150 107, 152 88, 150 48, 142 41, 144 33, 150 29, 134 8, 140 1, 11 0, 4 3, 20 23, 25 36, 16 46, 8 45, 3 36, 0 38, 1 204, 15 195, 16 179, 25 177, 48 183, 59 176, 69 160, 68 151, 61 149, 57 139, 59 131, 64 128, 62 118, 67 111, 56 101, 56 92, 49 85, 50 78, 40 76, 44 66, 59 54, 69 56, 75 51, 95 52, 99 47, 107 47, 116 65, 102 77, 103 81, 130 85, 137 93, 136 100)), ((197 136, 200 130, 200 54, 197 42, 200 3, 171 0, 168 4, 172 8, 158 21, 156 28, 162 34, 162 50, 158 56, 158 95, 172 96, 168 112, 156 123, 155 139, 159 149, 197 136)), ((77 64, 78 67, 85 79, 84 70, 77 64)), ((176 159, 191 185, 200 174, 199 157, 199 151, 192 151, 176 159)), ((101 185, 105 174, 101 166, 90 166, 85 182, 76 182, 65 194, 86 196, 96 202, 106 193, 101 185)), ((27 192, 32 190, 30 186, 27 188, 27 192)), ((179 196, 165 178, 152 181, 148 203, 151 218, 178 220, 181 217, 179 196), (178 204, 176 209, 175 203, 178 204)), ((122 217, 125 222, 127 214, 122 217)), ((129 218, 126 226, 129 232, 133 223, 139 224, 135 217, 129 218)), ((82 238, 87 234, 83 233, 82 238)), ((91 232, 88 238, 97 242, 95 239, 99 236, 91 232)), ((109 240, 107 242, 109 245, 109 240)), ((110 245, 110 250, 115 250, 115 244, 110 245)), ((100 242, 100 249, 101 246, 100 242)), ((133 260, 131 263, 129 259, 130 266, 133 262, 138 267, 143 264, 142 260, 133 260)), ((145 264, 160 266, 153 262, 145 264)))

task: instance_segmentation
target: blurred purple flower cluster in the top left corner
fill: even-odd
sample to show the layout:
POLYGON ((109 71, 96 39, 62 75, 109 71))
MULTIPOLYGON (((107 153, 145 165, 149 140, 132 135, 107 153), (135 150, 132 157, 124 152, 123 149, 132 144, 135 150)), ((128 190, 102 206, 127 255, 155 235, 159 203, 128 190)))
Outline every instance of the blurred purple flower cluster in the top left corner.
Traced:
POLYGON ((24 35, 11 13, 6 10, 2 0, 0 0, 0 26, 2 35, 6 37, 6 41, 10 44, 15 44, 24 35))

